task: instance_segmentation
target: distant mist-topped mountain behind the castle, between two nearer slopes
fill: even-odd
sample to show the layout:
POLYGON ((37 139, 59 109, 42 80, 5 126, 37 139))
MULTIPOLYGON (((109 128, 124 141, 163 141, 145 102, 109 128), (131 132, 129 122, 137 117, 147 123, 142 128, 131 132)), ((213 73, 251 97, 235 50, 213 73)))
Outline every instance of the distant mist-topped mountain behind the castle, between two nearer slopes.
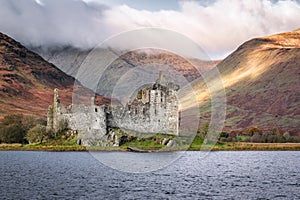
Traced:
MULTIPOLYGON (((82 62, 92 51, 91 49, 83 50, 71 46, 52 47, 48 49, 31 47, 31 49, 41 55, 45 60, 53 63, 62 71, 73 77, 77 77, 77 72, 82 62)), ((128 53, 113 52, 111 49, 96 49, 93 51, 101 51, 101 55, 105 55, 106 53, 114 53, 115 55, 120 55, 118 56, 118 59, 116 59, 108 66, 108 68, 105 70, 105 74, 102 74, 102 85, 101 88, 98 88, 97 90, 99 94, 107 97, 111 97, 111 91, 113 91, 116 82, 118 82, 118 80, 124 74, 131 70, 137 70, 137 68, 140 68, 140 71, 135 71, 136 76, 157 77, 158 74, 155 74, 157 73, 157 70, 155 69, 157 69, 159 66, 163 66, 166 70, 166 74, 172 74, 172 72, 170 71, 176 70, 177 73, 184 76, 184 78, 188 82, 191 82, 199 78, 201 76, 201 73, 209 71, 220 62, 193 59, 194 65, 192 65, 185 58, 164 50, 156 49, 142 49, 130 51, 128 53), (147 69, 142 70, 141 66, 144 66, 143 69, 147 69)), ((93 71, 94 69, 87 70, 93 71)), ((134 77, 128 76, 126 78, 128 78, 128 81, 130 81, 130 78, 134 77)), ((79 81, 84 82, 84 80, 79 81)))

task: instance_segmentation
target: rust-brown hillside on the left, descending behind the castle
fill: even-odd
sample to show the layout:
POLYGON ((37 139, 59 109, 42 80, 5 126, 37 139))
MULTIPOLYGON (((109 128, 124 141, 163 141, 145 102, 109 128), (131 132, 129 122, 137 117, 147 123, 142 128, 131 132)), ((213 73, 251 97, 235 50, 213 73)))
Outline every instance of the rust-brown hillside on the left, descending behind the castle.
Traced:
POLYGON ((73 84, 73 77, 0 33, 0 120, 13 113, 45 117, 53 89, 58 88, 61 101, 70 104, 73 84))

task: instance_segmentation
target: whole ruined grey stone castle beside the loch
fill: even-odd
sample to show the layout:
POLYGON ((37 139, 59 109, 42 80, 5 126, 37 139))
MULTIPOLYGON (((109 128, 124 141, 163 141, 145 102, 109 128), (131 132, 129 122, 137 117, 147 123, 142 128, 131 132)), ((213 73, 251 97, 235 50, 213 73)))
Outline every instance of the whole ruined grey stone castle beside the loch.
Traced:
POLYGON ((178 90, 179 86, 168 82, 162 72, 152 86, 139 90, 125 107, 97 106, 94 98, 89 106, 65 106, 60 103, 58 90, 55 89, 54 103, 48 109, 47 129, 57 132, 67 126, 70 130, 83 133, 81 139, 85 145, 94 145, 109 128, 178 135, 178 90))

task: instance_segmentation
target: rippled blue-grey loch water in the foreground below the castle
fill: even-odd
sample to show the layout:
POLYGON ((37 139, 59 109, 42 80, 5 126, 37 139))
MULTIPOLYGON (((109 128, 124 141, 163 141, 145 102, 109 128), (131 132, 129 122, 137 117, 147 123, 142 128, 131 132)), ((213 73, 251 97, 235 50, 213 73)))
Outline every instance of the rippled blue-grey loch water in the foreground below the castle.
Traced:
MULTIPOLYGON (((157 155, 98 156, 116 165, 130 156, 138 168, 135 156, 157 155)), ((0 151, 0 177, 0 199, 300 199, 300 152, 184 152, 162 169, 128 173, 89 152, 0 151)))

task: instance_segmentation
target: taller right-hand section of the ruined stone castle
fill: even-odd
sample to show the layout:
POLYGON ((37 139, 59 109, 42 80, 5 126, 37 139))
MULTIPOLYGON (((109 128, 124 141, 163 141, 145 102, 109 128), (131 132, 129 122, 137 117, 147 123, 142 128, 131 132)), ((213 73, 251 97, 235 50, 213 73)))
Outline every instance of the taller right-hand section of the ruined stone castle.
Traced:
POLYGON ((111 126, 142 133, 178 135, 177 90, 178 86, 160 75, 152 87, 140 90, 125 108, 112 108, 111 126))

